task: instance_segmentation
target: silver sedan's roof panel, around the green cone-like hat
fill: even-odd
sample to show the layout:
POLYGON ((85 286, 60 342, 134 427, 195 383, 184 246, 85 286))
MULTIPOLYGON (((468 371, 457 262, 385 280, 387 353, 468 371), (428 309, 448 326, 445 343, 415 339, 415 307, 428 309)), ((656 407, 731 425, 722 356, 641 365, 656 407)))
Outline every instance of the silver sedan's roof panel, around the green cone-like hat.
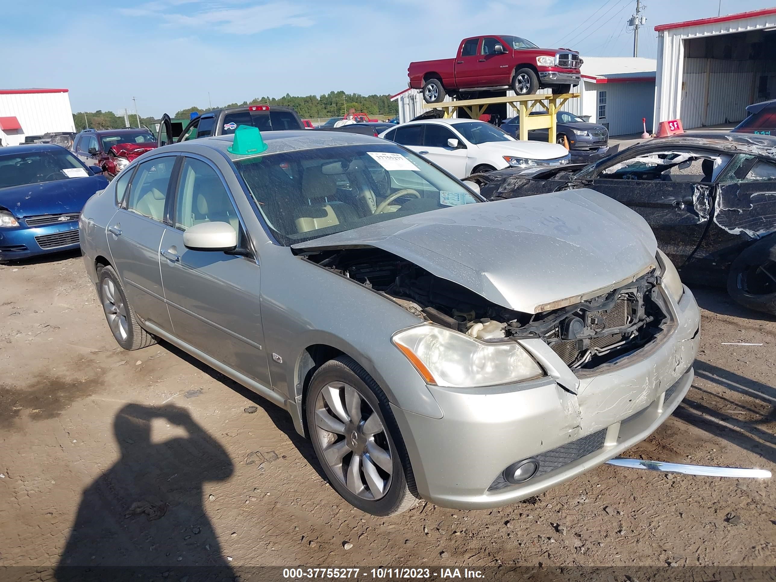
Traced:
MULTIPOLYGON (((391 142, 381 140, 379 137, 366 136, 361 133, 346 133, 342 131, 267 131, 262 133, 264 143, 267 144, 266 151, 261 155, 280 154, 286 151, 310 150, 318 147, 335 147, 347 145, 386 145, 391 142)), ((200 137, 197 140, 182 141, 178 144, 170 144, 160 147, 154 151, 192 151, 196 153, 197 148, 207 147, 222 151, 230 160, 241 160, 248 156, 231 154, 227 151, 234 141, 234 133, 229 135, 220 135, 217 137, 200 137)), ((254 156, 255 157, 255 156, 254 156)))

